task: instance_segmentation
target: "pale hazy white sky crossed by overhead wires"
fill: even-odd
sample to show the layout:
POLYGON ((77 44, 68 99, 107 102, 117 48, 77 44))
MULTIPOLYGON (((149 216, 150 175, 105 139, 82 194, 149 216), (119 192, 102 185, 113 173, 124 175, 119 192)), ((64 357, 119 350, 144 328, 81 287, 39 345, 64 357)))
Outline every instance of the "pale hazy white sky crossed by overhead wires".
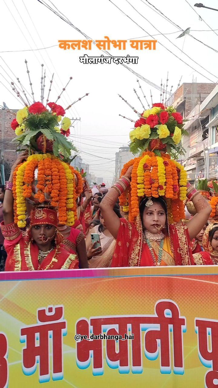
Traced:
MULTIPOLYGON (((135 50, 127 45, 125 51, 112 48, 110 53, 115 56, 127 55, 138 56, 138 64, 131 64, 134 71, 141 74, 147 80, 160 85, 161 78, 166 82, 167 72, 169 72, 168 90, 173 85, 176 89, 178 81, 182 76, 182 82, 191 82, 197 78, 197 82, 216 82, 218 80, 217 60, 218 53, 207 48, 187 35, 185 38, 176 39, 181 31, 173 26, 169 21, 159 16, 146 0, 112 0, 120 9, 129 15, 139 26, 137 26, 128 17, 123 15, 109 0, 46 0, 52 8, 56 6, 59 11, 66 15, 74 26, 79 28, 93 40, 103 39, 109 36, 110 39, 131 39, 147 36, 149 34, 159 34, 156 28, 163 34, 157 35, 156 51, 135 50), (148 21, 140 16, 131 5, 140 12, 148 21), (176 32, 177 31, 177 32, 176 32), (166 34, 170 35, 166 35, 166 34), (171 41, 169 42, 166 37, 171 41), (176 54, 183 61, 187 62, 192 68, 177 59, 160 45, 162 43, 170 51, 176 54), (173 43, 183 50, 183 53, 173 46, 173 43), (194 61, 189 59, 189 55, 194 61), (207 70, 203 70, 199 65, 207 70), (197 73, 204 74, 204 76, 197 73), (208 71, 213 75, 209 74, 208 71)), ((182 29, 191 28, 191 34, 218 50, 218 30, 210 31, 204 21, 199 20, 198 15, 191 9, 196 0, 149 0, 150 3, 161 10, 171 21, 178 24, 182 29), (193 31, 200 30, 200 31, 193 31), (207 30, 207 31, 202 31, 207 30), (209 31, 208 31, 209 30, 209 31)), ((205 0, 204 5, 218 8, 217 0, 205 0)), ((212 29, 217 27, 218 12, 203 8, 194 9, 209 24, 212 29)), ((81 121, 71 128, 71 139, 80 149, 81 157, 86 163, 90 164, 90 172, 97 176, 104 177, 104 180, 111 179, 115 167, 115 152, 121 145, 127 145, 128 133, 131 130, 132 123, 119 117, 123 114, 134 120, 136 114, 119 97, 118 93, 123 95, 138 111, 143 108, 133 92, 133 88, 138 89, 137 77, 130 73, 121 65, 116 64, 89 64, 80 63, 79 57, 84 54, 89 56, 98 56, 103 54, 97 47, 92 46, 92 51, 81 50, 61 50, 58 47, 58 40, 61 39, 83 39, 84 37, 73 27, 66 24, 59 17, 55 16, 50 10, 42 5, 38 0, 2 0, 1 2, 1 40, 0 40, 0 81, 10 88, 7 81, 15 80, 10 72, 13 71, 16 77, 19 77, 22 84, 30 91, 28 74, 26 73, 24 60, 27 59, 31 82, 35 93, 35 100, 40 100, 40 77, 41 64, 44 64, 47 74, 47 87, 45 95, 48 93, 51 74, 54 72, 54 83, 50 93, 49 100, 55 101, 62 88, 66 85, 69 77, 72 76, 69 86, 59 100, 63 107, 89 93, 88 97, 73 106, 70 118, 81 117, 81 121), (49 47, 46 50, 33 50, 49 47), (11 52, 5 52, 11 51, 11 52), (5 65, 7 63, 9 68, 5 65), (7 74, 5 73, 7 72, 7 74), (7 81, 2 77, 7 79, 7 81)), ((84 38, 85 39, 85 38, 84 38)), ((106 55, 106 54, 104 54, 106 55)), ((6 102, 11 109, 22 107, 22 104, 16 100, 16 95, 10 94, 0 83, 0 104, 6 102)), ((142 89, 149 102, 150 86, 140 80, 142 89)), ((160 92, 152 88, 153 102, 160 102, 160 92)), ((147 108, 145 99, 143 103, 147 108)))

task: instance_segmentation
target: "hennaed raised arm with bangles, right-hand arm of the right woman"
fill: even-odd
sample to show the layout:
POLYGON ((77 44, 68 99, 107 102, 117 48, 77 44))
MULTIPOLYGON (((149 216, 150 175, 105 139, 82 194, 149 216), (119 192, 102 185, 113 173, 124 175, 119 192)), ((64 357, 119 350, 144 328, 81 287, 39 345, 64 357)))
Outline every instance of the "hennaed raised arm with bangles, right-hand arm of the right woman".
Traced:
POLYGON ((206 199, 189 183, 187 184, 187 198, 190 199, 197 211, 187 224, 190 239, 193 239, 203 229, 211 213, 211 206, 206 199))

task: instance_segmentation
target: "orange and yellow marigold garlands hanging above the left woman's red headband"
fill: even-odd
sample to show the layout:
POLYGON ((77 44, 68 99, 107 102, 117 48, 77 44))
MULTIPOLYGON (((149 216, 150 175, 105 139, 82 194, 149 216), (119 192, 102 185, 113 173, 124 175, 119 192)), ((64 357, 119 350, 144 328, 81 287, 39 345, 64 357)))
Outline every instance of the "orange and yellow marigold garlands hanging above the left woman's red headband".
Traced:
POLYGON ((19 227, 26 226, 26 198, 34 195, 39 203, 50 201, 57 208, 61 224, 72 226, 76 219, 76 190, 74 174, 78 178, 77 192, 81 194, 80 173, 53 154, 33 154, 16 167, 13 175, 14 221, 19 227), (37 192, 32 185, 37 173, 37 192))

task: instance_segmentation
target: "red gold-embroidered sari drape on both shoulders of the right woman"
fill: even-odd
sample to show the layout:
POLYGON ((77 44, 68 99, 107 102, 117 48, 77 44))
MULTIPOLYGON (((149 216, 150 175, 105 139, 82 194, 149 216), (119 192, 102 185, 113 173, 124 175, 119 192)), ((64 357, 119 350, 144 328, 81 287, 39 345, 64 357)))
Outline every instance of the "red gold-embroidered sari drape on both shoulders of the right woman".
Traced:
MULTIPOLYGON (((143 242, 143 231, 140 217, 136 223, 120 219, 116 247, 111 267, 151 267, 154 265, 149 247, 143 242)), ((213 264, 210 258, 198 259, 192 256, 188 227, 184 223, 169 225, 170 250, 174 265, 209 265, 213 264)))

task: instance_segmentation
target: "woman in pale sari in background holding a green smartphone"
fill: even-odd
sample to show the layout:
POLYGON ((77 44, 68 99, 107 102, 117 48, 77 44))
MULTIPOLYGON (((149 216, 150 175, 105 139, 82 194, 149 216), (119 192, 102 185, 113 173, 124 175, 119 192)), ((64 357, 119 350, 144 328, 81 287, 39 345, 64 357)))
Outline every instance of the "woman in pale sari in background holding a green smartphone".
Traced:
MULTIPOLYGON (((121 218, 121 215, 117 208, 114 208, 113 211, 115 212, 116 217, 121 218)), ((89 268, 110 267, 115 244, 116 244, 116 240, 107 229, 104 218, 100 214, 100 225, 96 225, 95 227, 93 227, 88 233, 88 236, 86 239, 89 268), (92 233, 99 234, 100 244, 101 244, 100 248, 95 248, 95 243, 92 244, 92 240, 91 240, 92 233)))

